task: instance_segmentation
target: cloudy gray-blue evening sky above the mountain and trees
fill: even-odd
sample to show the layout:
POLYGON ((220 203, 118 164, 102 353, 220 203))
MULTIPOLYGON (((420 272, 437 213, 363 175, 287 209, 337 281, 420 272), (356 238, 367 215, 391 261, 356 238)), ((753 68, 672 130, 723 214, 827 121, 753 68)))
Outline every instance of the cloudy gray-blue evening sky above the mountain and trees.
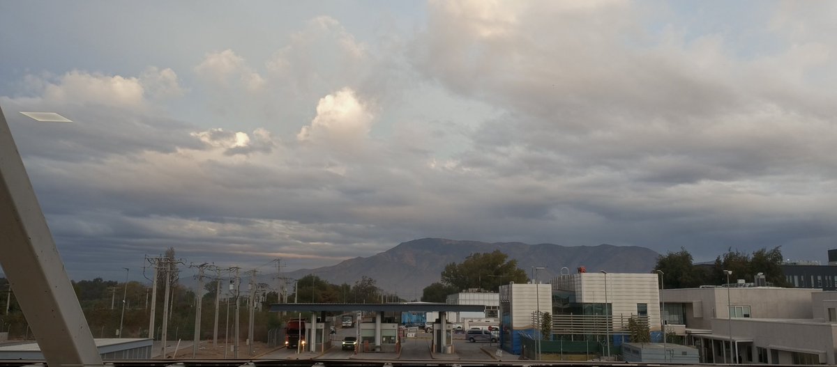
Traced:
POLYGON ((295 270, 423 237, 826 263, 834 19, 834 2, 0 2, 0 107, 76 280, 150 278, 167 247, 295 270))

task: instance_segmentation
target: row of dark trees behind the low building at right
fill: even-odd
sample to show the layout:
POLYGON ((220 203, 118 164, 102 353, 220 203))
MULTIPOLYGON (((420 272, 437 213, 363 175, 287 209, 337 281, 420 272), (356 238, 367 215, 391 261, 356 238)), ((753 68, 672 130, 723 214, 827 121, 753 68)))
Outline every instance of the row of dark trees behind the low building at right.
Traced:
POLYGON ((762 248, 752 253, 727 250, 712 264, 694 264, 691 253, 685 248, 657 257, 654 270, 664 273, 665 288, 696 288, 701 285, 727 283, 724 270, 732 271, 732 279, 753 282, 757 273, 763 273, 767 282, 776 287, 789 287, 782 272, 780 247, 762 248))

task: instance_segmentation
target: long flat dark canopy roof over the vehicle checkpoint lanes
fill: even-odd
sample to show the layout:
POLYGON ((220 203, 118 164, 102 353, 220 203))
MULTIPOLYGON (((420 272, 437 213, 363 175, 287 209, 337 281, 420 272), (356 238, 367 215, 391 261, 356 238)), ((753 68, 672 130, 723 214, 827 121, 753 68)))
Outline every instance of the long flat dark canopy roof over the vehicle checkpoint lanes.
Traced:
POLYGON ((347 312, 347 311, 383 311, 383 312, 482 312, 482 304, 449 303, 273 303, 270 312, 347 312))

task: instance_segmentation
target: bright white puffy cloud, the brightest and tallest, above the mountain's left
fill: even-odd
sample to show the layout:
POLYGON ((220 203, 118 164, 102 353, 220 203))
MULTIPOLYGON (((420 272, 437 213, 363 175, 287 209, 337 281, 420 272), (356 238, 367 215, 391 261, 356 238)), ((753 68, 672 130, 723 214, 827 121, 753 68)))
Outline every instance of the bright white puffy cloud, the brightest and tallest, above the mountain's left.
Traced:
POLYGON ((356 145, 369 134, 373 115, 354 90, 343 88, 320 99, 311 125, 303 126, 297 140, 356 145))

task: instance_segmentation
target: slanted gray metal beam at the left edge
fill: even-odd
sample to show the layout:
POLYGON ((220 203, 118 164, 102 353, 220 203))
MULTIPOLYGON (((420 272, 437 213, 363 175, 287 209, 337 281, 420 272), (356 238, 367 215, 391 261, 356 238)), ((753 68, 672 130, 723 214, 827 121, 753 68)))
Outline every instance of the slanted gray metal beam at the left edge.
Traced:
POLYGON ((49 367, 102 365, 2 109, 0 246, 0 265, 49 367))

